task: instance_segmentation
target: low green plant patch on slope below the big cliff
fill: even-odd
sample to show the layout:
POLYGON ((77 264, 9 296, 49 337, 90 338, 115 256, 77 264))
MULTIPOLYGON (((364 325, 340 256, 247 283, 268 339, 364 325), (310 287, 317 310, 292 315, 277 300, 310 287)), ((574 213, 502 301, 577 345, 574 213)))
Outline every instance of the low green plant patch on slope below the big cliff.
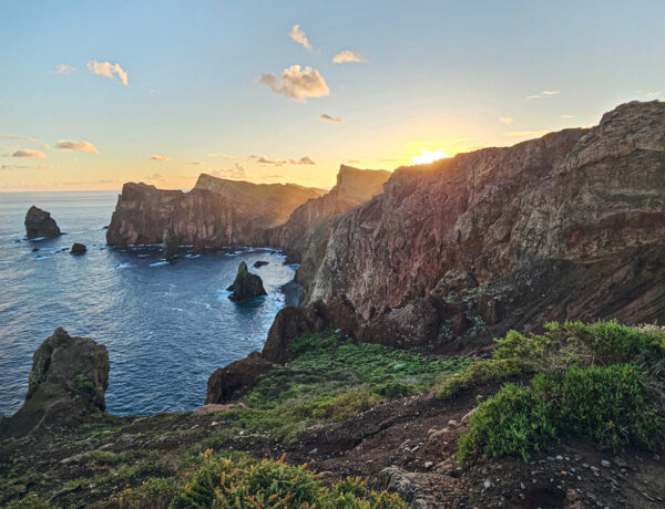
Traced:
POLYGON ((305 335, 291 343, 300 355, 266 376, 221 419, 249 433, 289 439, 307 426, 354 417, 382 399, 432 389, 464 370, 467 357, 440 357, 416 351, 339 339, 305 335))

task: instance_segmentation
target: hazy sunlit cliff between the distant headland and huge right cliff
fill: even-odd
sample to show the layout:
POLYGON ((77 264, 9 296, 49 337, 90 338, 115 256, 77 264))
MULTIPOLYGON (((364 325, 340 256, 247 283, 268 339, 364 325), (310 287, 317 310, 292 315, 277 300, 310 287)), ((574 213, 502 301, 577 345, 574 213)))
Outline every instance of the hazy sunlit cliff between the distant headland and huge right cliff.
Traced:
MULTIPOLYGON (((284 249, 289 262, 320 258, 317 250, 325 243, 330 220, 381 194, 390 175, 390 172, 381 169, 341 165, 337 184, 328 194, 300 205, 285 224, 259 232, 256 243, 284 249), (309 256, 306 257, 307 251, 309 256)), ((298 279, 306 279, 304 274, 308 276, 314 270, 315 267, 301 266, 298 279)))

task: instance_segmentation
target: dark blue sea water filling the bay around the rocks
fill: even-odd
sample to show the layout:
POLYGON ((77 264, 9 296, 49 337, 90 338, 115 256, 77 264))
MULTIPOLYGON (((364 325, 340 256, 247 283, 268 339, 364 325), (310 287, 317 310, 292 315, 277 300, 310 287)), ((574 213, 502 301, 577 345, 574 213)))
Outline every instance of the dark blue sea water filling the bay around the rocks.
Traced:
POLYGON ((297 298, 280 290, 295 268, 267 250, 161 260, 160 247, 106 248, 104 225, 116 193, 0 194, 0 413, 16 412, 31 357, 57 326, 106 345, 108 411, 154 414, 203 404, 217 367, 260 350, 277 311, 297 298), (51 212, 66 235, 24 240, 31 205, 51 212), (59 250, 73 242, 84 256, 59 250), (32 252, 33 248, 38 252, 32 252), (245 303, 225 289, 245 260, 267 297, 245 303), (256 260, 269 261, 259 269, 256 260))

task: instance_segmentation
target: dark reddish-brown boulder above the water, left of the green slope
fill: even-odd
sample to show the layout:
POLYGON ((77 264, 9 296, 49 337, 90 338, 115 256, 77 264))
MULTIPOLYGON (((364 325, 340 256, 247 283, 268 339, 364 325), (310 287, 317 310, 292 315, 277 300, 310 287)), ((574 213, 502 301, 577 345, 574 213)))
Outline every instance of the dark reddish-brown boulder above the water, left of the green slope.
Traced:
POLYGON ((232 362, 226 367, 215 371, 208 378, 205 404, 224 404, 237 399, 254 387, 260 375, 273 368, 273 363, 258 352, 232 362))

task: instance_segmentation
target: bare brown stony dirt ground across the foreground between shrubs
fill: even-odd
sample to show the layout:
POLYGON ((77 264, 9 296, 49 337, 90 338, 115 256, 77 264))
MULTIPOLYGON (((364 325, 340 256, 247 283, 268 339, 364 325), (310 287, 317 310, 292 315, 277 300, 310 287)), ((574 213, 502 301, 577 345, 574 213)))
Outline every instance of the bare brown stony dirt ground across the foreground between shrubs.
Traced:
MULTIPOLYGON (((488 387, 483 389, 488 392, 488 387)), ((215 442, 214 448, 256 457, 308 464, 325 482, 345 476, 367 478, 374 487, 398 491, 419 508, 645 508, 665 507, 665 463, 658 455, 627 449, 621 456, 579 440, 564 440, 531 463, 508 458, 460 469, 457 439, 466 429, 477 397, 453 401, 433 394, 379 404, 359 416, 301 433, 288 444, 242 435, 215 442)), ((114 482, 94 482, 100 472, 86 456, 94 451, 141 450, 167 458, 205 448, 223 436, 218 411, 112 418, 112 430, 55 429, 49 436, 0 442, 0 503, 35 491, 54 505, 86 507, 156 471, 141 470, 114 482), (89 477, 90 484, 60 489, 89 477)), ((91 429, 91 428, 89 428, 91 429)), ((92 428, 94 429, 94 427, 92 428)), ((120 471, 120 470, 119 470, 120 471)))

